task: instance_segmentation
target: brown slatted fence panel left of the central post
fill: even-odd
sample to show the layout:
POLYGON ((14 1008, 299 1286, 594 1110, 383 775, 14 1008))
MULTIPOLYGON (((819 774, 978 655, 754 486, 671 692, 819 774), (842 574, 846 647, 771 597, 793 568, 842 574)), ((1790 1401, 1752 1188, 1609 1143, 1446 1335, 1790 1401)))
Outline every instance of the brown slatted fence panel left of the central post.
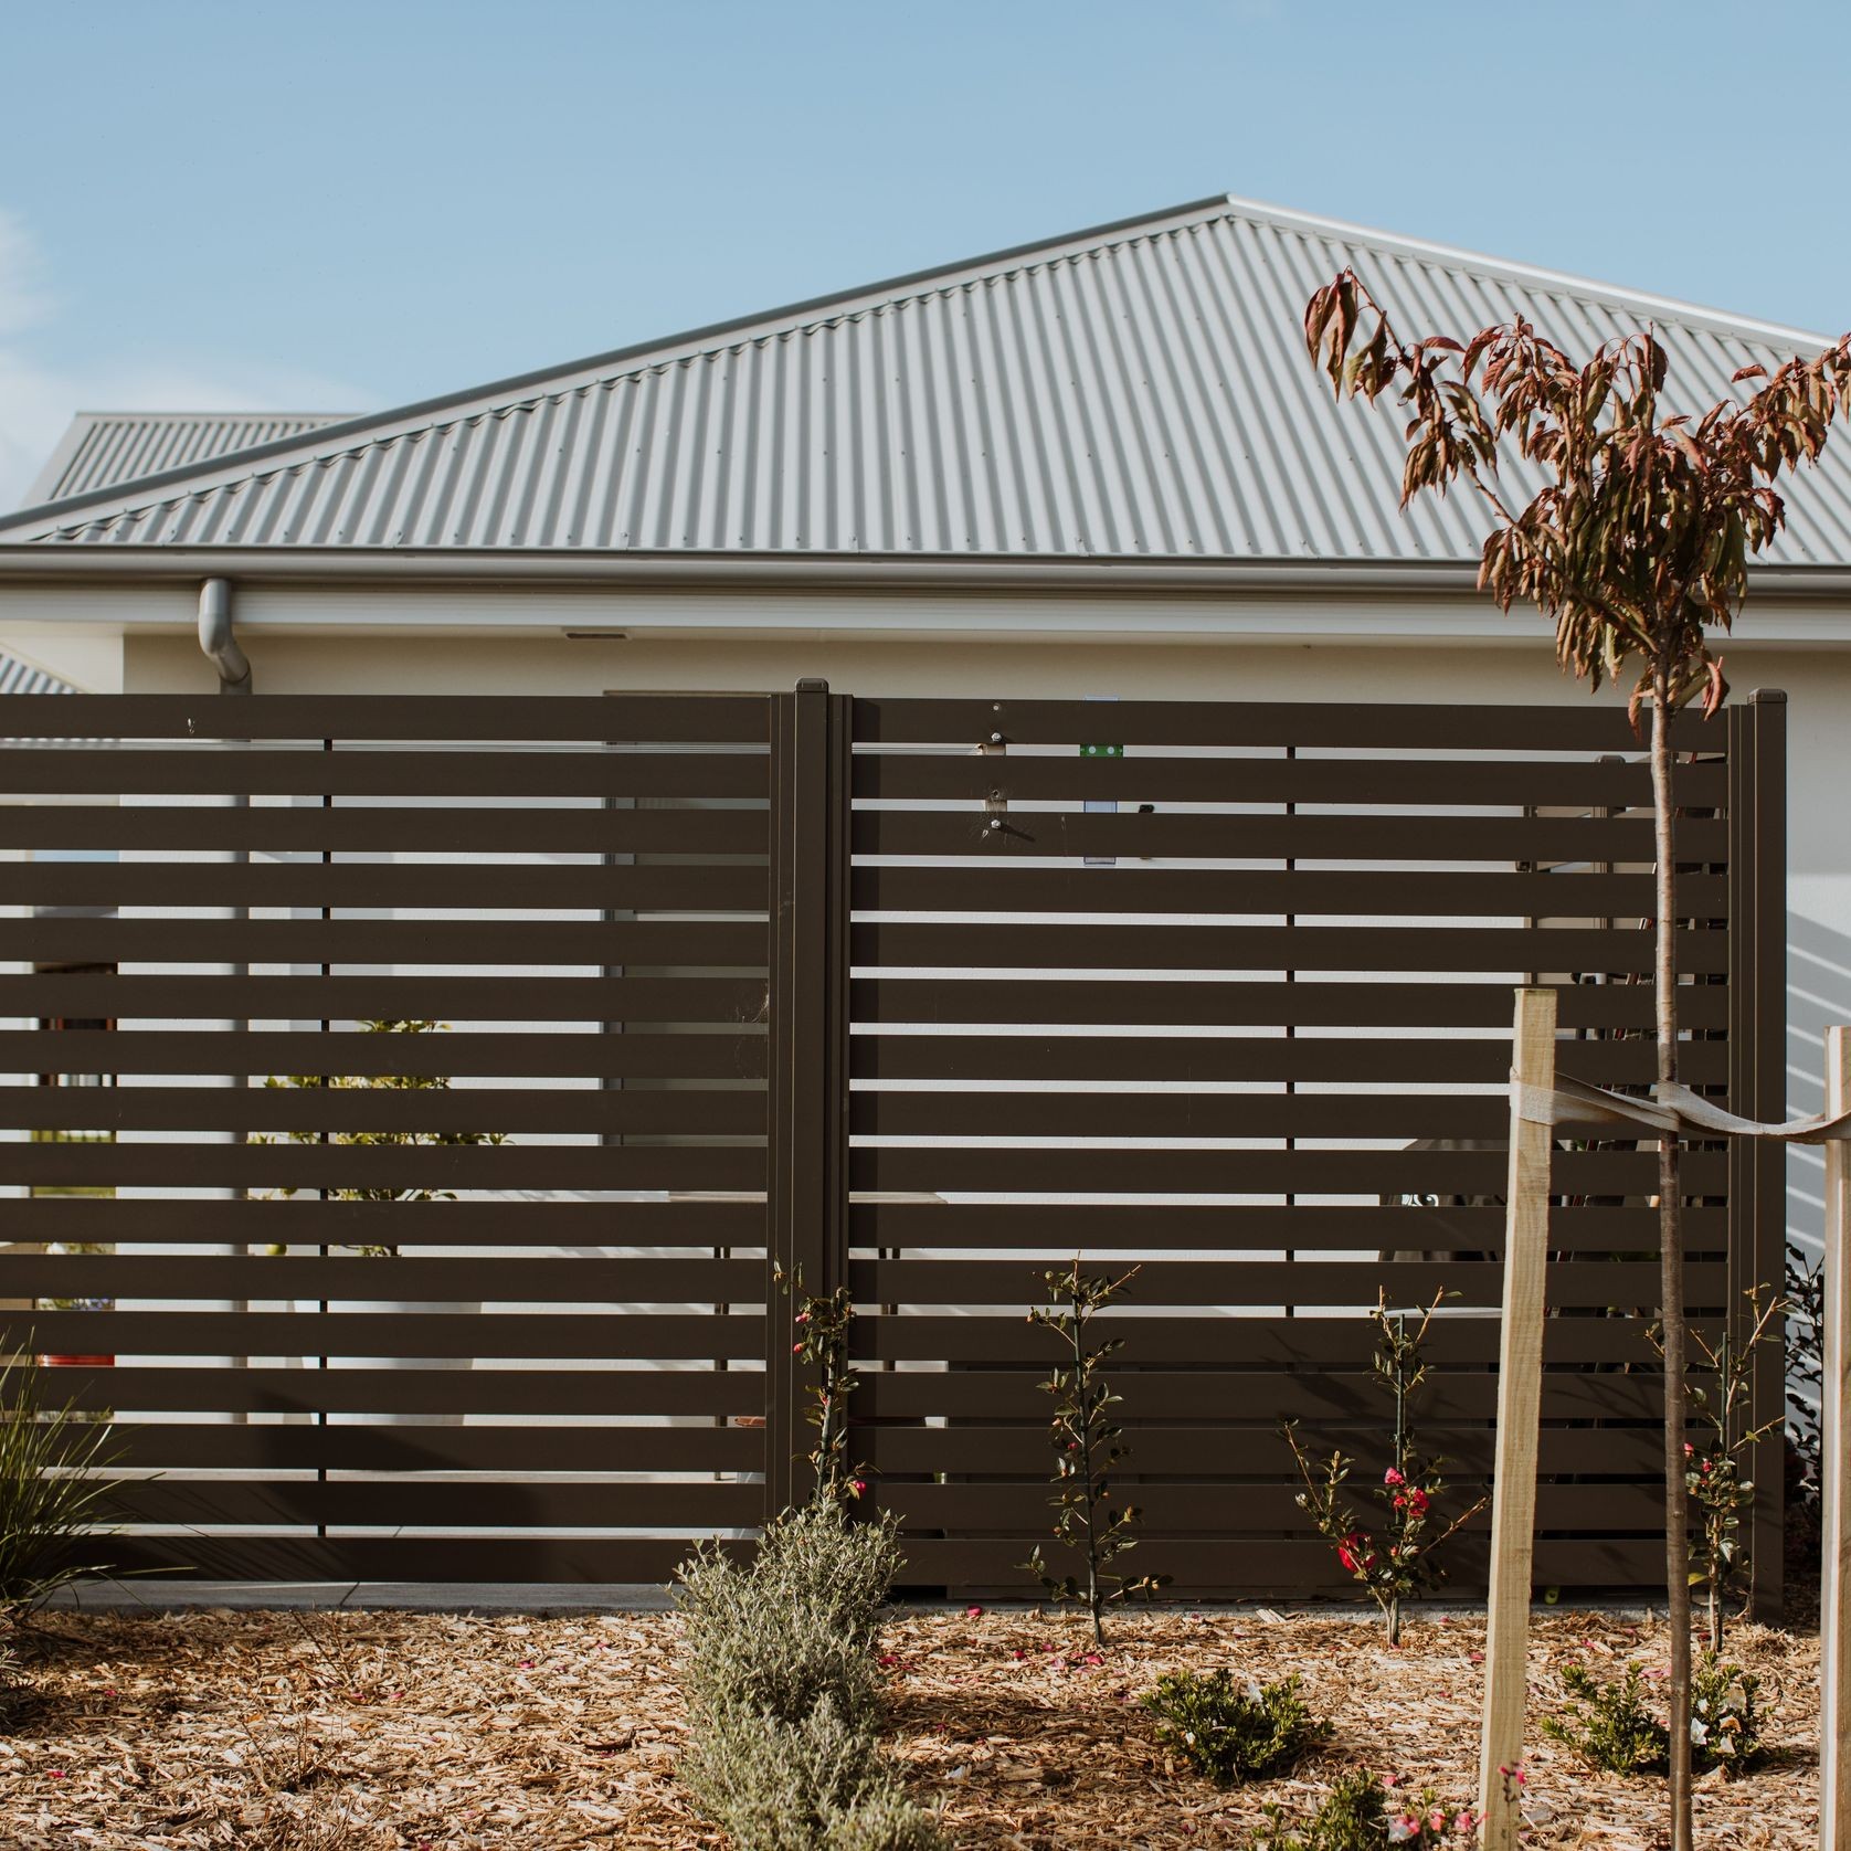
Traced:
POLYGON ((0 1342, 143 1479, 102 1555, 763 1520, 770 705, 6 703, 0 1342))

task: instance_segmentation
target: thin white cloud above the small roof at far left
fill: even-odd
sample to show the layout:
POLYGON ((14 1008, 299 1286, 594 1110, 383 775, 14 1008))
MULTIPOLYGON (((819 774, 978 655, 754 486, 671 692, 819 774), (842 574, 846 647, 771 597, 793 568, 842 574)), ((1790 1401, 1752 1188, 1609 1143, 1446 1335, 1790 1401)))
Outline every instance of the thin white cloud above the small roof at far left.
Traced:
POLYGON ((57 313, 26 222, 0 207, 0 509, 19 507, 76 411, 361 411, 368 394, 300 366, 100 354, 54 366, 33 335, 57 313))

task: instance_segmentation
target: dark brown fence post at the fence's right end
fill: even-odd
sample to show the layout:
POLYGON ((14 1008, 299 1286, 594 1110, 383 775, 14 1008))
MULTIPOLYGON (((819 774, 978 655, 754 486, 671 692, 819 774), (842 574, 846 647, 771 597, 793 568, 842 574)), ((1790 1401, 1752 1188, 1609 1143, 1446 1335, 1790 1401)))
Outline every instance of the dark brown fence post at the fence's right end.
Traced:
MULTIPOLYGON (((1729 709, 1729 1109, 1777 1124, 1786 1116, 1786 694, 1757 689, 1729 709)), ((1729 1140, 1729 1305, 1747 1340, 1755 1286, 1781 1288, 1786 1266, 1786 1148, 1729 1140)), ((1779 1335, 1779 1333, 1777 1333, 1779 1335)), ((1777 1621, 1784 1605, 1786 1344, 1760 1344, 1749 1362, 1745 1429, 1773 1422, 1751 1447, 1749 1605, 1777 1621)))

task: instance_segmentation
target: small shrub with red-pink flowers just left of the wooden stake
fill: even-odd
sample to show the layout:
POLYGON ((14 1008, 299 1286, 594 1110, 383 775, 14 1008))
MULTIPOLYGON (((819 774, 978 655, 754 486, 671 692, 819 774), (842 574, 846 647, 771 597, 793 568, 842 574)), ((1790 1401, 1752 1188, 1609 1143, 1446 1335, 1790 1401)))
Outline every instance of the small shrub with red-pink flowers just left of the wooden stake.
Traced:
POLYGON ((1298 1507, 1311 1514, 1344 1573, 1370 1590, 1388 1621, 1390 1646, 1401 1644, 1403 1603, 1444 1579, 1435 1551, 1490 1503, 1488 1497, 1479 1497, 1455 1516, 1442 1518, 1435 1507, 1446 1490, 1446 1460, 1423 1455, 1414 1440, 1412 1403, 1427 1379, 1423 1348, 1440 1301, 1435 1298, 1412 1325, 1405 1312, 1390 1312, 1385 1298, 1377 1298, 1372 1312, 1375 1379, 1394 1401, 1392 1457, 1381 1485, 1372 1486, 1383 1507, 1379 1525, 1370 1527, 1344 1496, 1355 1460, 1336 1451, 1325 1460, 1312 1460, 1299 1444, 1298 1423, 1286 1422, 1283 1427, 1305 1481, 1298 1507))

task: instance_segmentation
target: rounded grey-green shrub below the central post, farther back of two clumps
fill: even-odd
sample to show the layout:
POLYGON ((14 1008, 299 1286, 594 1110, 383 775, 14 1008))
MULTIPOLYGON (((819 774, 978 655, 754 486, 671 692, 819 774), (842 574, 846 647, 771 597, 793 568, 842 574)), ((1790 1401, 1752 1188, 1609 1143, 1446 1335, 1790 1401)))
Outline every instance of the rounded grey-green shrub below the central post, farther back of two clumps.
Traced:
POLYGON ((690 1718, 746 1710, 801 1723, 827 1699, 872 1729, 874 1634, 901 1566, 894 1533, 892 1516, 850 1523, 813 1503, 766 1523, 748 1566, 696 1549, 676 1596, 690 1718))

